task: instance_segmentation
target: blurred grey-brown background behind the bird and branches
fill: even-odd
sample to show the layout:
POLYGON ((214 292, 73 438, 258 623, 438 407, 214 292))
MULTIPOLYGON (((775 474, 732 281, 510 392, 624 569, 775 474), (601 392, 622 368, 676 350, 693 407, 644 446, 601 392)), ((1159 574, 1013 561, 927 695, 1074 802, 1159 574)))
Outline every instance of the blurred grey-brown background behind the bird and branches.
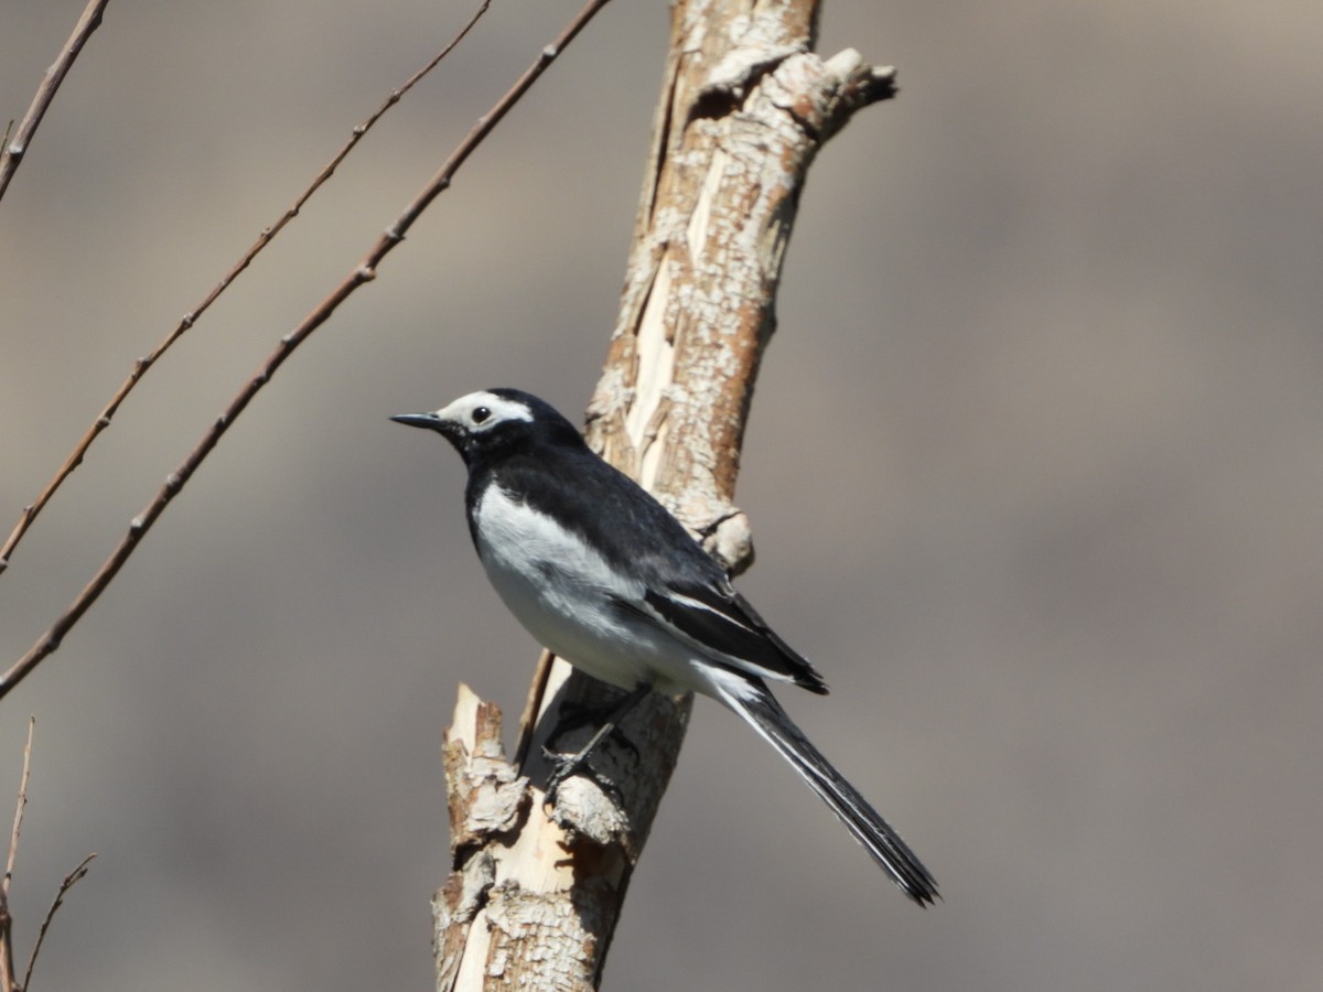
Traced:
MULTIPOLYGON (((21 116, 82 0, 0 7, 21 116)), ((8 665, 242 380, 577 8, 497 0, 146 380, 0 578, 8 665)), ((0 204, 0 529, 467 3, 111 3, 0 204)), ((439 745, 534 645, 463 471, 389 423, 573 417, 623 274, 667 11, 617 0, 226 435, 0 706, 38 989, 430 987, 439 745)), ((902 94, 814 167, 740 503, 782 693, 943 884, 919 913, 700 701, 607 987, 1323 985, 1323 16, 828 3, 902 94)))

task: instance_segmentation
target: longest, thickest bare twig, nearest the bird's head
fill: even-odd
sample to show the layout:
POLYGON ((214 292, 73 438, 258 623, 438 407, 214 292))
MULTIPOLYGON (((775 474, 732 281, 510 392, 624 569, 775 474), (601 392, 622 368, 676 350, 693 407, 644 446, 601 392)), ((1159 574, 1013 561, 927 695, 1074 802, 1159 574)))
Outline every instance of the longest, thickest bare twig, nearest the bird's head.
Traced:
POLYGON ((344 280, 331 291, 321 303, 312 308, 312 311, 302 320, 302 323, 284 337, 277 345, 275 351, 267 356, 266 361, 258 368, 257 373, 243 385, 242 389, 234 395, 229 406, 216 418, 216 422, 208 429, 202 435, 197 446, 188 454, 188 456, 180 463, 180 466, 165 476, 165 481, 160 491, 152 497, 152 501, 147 504, 142 513, 139 513, 128 525, 128 533, 120 540, 119 546, 111 553, 111 556, 102 563, 97 574, 93 575, 91 581, 83 587, 78 598, 69 606, 69 608, 50 626, 50 628, 42 634, 37 643, 29 648, 28 653, 19 659, 8 672, 0 676, 0 698, 4 698, 9 692, 21 682, 33 668, 36 668, 41 660, 60 648, 60 643, 64 636, 73 628, 75 623, 87 612, 97 598, 105 591, 106 586, 110 585, 115 574, 123 567, 124 562, 134 553, 138 542, 143 540, 152 524, 165 509, 167 504, 184 488, 184 484, 193 476, 198 466, 206 459, 212 448, 221 439, 221 435, 230 427, 232 423, 243 413, 243 409, 251 402, 262 388, 271 381, 271 376, 275 374, 277 369, 284 364, 294 349, 298 348, 303 341, 306 341, 314 331, 316 331, 321 324, 324 324, 336 308, 344 303, 360 286, 372 282, 377 275, 377 266, 381 261, 394 249, 401 241, 404 241, 405 234, 413 226, 414 221, 422 214, 423 210, 435 200, 442 190, 450 186, 451 180, 459 168, 464 164, 474 149, 482 144, 483 139, 491 134, 492 128, 509 112, 520 98, 528 93, 534 82, 546 71, 546 69, 556 61, 565 46, 569 45, 578 33, 587 25, 589 21, 601 11, 610 0, 589 0, 589 3, 579 11, 573 20, 565 26, 565 29, 556 37, 556 40, 544 48, 533 63, 524 71, 524 74, 515 82, 515 85, 503 95, 491 110, 478 119, 478 123, 468 132, 468 135, 455 147, 455 151, 450 153, 450 157, 441 167, 435 176, 433 176, 427 184, 418 192, 413 201, 404 209, 404 212, 396 218, 396 222, 388 227, 372 250, 364 255, 363 261, 359 262, 349 272, 344 280))

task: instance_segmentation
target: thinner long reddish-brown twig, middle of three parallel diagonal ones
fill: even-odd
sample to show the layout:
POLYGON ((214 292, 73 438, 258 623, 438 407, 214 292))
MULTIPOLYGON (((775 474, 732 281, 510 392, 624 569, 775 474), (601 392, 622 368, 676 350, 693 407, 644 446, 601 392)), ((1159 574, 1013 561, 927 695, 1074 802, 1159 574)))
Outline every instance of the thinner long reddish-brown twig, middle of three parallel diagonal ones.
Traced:
POLYGON ((349 140, 345 142, 344 147, 321 168, 321 172, 319 172, 312 183, 308 184, 307 189, 295 197, 294 202, 290 204, 283 214, 280 214, 280 218, 271 226, 263 227, 262 233, 258 234, 257 241, 254 241, 253 245, 250 245, 249 249, 239 257, 238 262, 235 262, 230 270, 221 276, 221 280, 212 288, 212 291, 206 294, 206 296, 204 296, 202 300, 193 307, 193 310, 180 317, 179 324, 176 324, 175 328, 165 335, 165 337, 161 339, 161 341, 146 357, 134 362, 134 368, 130 370, 128 377, 120 384, 119 390, 116 390, 115 395, 110 398, 110 402, 106 403, 105 409, 97 415, 97 419, 93 421, 87 433, 83 434, 82 439, 74 446, 74 450, 69 454, 69 458, 65 459, 60 471, 56 472, 49 483, 46 483, 46 488, 41 491, 37 499, 22 508, 22 512, 19 515, 19 522, 9 533, 4 545, 0 545, 0 573, 4 573, 8 567, 9 558, 13 556, 15 548, 19 546, 19 541, 22 540, 22 536, 28 532, 28 528, 32 526, 37 515, 41 513, 42 508, 50 501, 50 497, 54 495, 56 489, 64 484, 65 479, 67 479, 79 464, 82 464, 83 456, 87 454, 87 448, 90 448, 98 435, 101 435, 101 433, 110 426, 111 418, 119 410, 120 403, 124 402, 124 398, 132 392, 134 386, 138 385, 138 381, 147 373, 147 369, 149 369, 156 360, 160 358, 172 344, 175 344, 175 341, 183 337, 184 333, 197 323, 197 319, 202 316, 202 313, 216 302, 217 296, 229 288, 239 274, 249 267, 253 259, 257 258, 262 249, 271 243, 284 225, 299 216, 303 205, 312 198, 312 194, 318 192, 321 184, 331 179, 340 163, 344 161, 349 152, 353 151, 355 145, 359 144, 363 136, 372 130, 372 126, 376 124, 377 120, 381 119, 388 110, 390 110, 390 107, 398 103, 400 99, 413 89, 414 83, 435 69, 437 65, 439 65, 441 61, 448 56, 460 41, 464 40, 464 36, 472 30, 479 19, 487 13, 488 7, 491 7, 491 0, 483 0, 474 15, 468 19, 468 22, 459 29, 455 37, 451 38, 450 42, 439 53, 437 53, 430 62, 427 62, 427 65, 410 75, 409 79, 406 79, 401 86, 392 90, 385 102, 366 120, 353 128, 349 135, 349 140))

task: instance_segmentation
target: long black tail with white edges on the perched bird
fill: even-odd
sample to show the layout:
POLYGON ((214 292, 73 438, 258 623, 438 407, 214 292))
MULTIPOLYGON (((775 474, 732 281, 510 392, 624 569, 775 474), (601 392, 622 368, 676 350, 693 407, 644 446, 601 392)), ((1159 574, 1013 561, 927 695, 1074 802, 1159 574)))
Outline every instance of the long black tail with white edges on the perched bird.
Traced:
POLYGON ((941 898, 937 881, 914 857, 900 835, 868 800, 832 767, 794 725, 786 710, 761 682, 732 675, 720 680, 721 700, 744 717, 794 766, 873 860, 919 906, 941 898))

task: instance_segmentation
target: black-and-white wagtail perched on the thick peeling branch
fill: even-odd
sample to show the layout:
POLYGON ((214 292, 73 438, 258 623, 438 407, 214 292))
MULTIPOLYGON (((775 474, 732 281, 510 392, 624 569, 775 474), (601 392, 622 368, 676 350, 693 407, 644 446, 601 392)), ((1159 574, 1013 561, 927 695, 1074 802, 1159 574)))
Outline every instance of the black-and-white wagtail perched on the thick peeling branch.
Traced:
MULTIPOLYGON (((508 388, 390 419, 435 431, 459 452, 478 558, 523 627, 576 668, 628 692, 572 762, 648 692, 708 696, 794 767, 910 899, 927 906, 941 898, 923 864, 769 688, 789 682, 826 694, 823 677, 684 525, 591 451, 569 419, 508 388)), ((568 771, 562 766, 554 784, 568 771)))

